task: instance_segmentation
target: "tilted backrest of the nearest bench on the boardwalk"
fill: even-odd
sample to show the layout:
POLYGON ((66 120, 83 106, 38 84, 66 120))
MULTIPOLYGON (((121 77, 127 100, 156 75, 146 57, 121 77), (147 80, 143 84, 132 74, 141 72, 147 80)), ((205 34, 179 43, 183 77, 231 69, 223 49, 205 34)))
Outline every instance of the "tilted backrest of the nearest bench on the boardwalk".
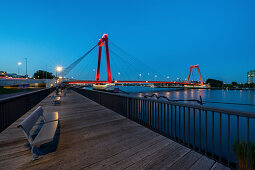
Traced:
POLYGON ((40 116, 43 116, 43 109, 41 106, 39 106, 37 109, 35 109, 30 115, 28 115, 19 125, 18 127, 22 128, 25 132, 25 135, 29 142, 31 142, 31 135, 30 131, 35 125, 35 123, 38 121, 40 116))

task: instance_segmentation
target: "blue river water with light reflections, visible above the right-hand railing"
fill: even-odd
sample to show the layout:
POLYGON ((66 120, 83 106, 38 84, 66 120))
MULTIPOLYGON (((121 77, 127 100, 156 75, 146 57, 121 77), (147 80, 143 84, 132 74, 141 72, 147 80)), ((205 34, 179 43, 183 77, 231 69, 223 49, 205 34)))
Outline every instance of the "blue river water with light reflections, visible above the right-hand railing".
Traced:
MULTIPOLYGON (((211 89, 181 89, 181 88, 149 88, 149 87, 119 87, 121 90, 131 93, 132 96, 143 97, 157 94, 166 96, 171 100, 200 100, 205 106, 226 108, 255 113, 255 91, 252 90, 211 90, 211 89), (218 102, 218 103, 213 103, 218 102), (232 103, 232 104, 230 104, 232 103), (247 105, 238 105, 247 104, 247 105)), ((196 104, 195 102, 188 102, 196 104)))

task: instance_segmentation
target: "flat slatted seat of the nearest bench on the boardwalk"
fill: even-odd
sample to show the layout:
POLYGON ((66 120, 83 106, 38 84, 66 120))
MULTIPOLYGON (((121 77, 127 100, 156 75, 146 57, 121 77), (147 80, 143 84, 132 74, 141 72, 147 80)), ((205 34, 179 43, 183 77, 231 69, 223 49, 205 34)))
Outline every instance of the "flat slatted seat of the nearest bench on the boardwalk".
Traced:
POLYGON ((57 125, 58 121, 45 123, 31 145, 36 146, 52 141, 57 129, 57 125))

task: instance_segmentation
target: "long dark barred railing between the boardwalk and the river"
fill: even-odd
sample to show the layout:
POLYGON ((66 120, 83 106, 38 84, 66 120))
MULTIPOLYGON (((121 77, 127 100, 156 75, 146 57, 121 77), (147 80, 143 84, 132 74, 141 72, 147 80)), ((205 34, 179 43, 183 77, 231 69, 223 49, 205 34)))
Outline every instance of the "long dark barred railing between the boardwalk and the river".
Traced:
POLYGON ((87 89, 74 90, 229 167, 255 167, 253 113, 87 89))

